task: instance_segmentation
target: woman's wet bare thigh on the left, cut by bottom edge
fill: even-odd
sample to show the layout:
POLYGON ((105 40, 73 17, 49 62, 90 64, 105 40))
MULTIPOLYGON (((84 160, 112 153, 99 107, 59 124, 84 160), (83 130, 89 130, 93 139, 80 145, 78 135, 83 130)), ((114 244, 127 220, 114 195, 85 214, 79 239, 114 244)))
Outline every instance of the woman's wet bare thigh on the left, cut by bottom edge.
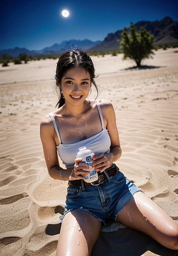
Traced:
POLYGON ((93 215, 75 210, 62 222, 56 256, 89 256, 101 231, 101 221, 93 215))

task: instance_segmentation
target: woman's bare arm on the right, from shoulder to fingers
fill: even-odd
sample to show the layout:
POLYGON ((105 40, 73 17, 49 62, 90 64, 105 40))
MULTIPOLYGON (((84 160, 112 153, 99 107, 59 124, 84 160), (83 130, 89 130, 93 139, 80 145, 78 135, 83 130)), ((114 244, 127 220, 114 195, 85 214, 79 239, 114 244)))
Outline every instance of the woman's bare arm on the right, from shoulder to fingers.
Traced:
POLYGON ((106 128, 108 130, 111 146, 110 153, 97 154, 93 157, 93 167, 96 171, 103 172, 113 162, 117 161, 122 154, 122 149, 119 140, 119 133, 116 125, 116 115, 111 101, 102 100, 100 103, 103 118, 107 120, 106 128))

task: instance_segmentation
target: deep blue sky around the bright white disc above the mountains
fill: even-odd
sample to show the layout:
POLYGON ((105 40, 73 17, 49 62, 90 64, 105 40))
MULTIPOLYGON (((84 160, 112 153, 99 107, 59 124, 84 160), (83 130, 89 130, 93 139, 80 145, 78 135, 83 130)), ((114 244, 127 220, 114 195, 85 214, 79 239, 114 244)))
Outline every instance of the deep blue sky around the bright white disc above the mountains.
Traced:
POLYGON ((178 21, 178 1, 165 0, 3 0, 0 49, 40 50, 70 39, 104 40, 130 22, 178 21), (69 16, 61 15, 63 9, 69 16))

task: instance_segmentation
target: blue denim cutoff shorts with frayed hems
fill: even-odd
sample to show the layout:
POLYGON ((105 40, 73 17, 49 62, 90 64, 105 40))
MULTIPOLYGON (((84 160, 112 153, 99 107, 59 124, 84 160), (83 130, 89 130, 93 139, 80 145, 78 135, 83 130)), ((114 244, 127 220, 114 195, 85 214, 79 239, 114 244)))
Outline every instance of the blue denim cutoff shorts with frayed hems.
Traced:
MULTIPOLYGON (((108 176, 108 175, 107 175, 108 176)), ((68 185, 66 205, 63 220, 66 213, 74 210, 85 211, 97 217, 106 225, 107 219, 117 221, 118 212, 133 198, 133 194, 141 189, 137 188, 131 180, 117 171, 108 181, 98 185, 85 187, 74 187, 68 185)))

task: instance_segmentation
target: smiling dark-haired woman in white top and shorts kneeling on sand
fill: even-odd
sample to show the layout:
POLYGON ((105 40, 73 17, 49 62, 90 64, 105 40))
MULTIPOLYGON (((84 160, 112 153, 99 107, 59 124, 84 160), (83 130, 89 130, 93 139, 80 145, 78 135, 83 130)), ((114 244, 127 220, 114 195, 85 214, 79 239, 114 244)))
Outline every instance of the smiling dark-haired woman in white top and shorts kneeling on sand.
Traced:
POLYGON ((94 78, 93 62, 86 52, 64 53, 55 75, 58 109, 41 120, 48 173, 53 179, 69 181, 56 255, 90 255, 107 218, 177 250, 176 223, 113 164, 122 153, 115 112, 108 100, 88 99, 93 85, 98 92, 94 78), (88 166, 76 158, 82 146, 95 153, 92 167, 99 179, 92 183, 83 180, 88 166), (66 169, 60 167, 57 154, 66 169))

